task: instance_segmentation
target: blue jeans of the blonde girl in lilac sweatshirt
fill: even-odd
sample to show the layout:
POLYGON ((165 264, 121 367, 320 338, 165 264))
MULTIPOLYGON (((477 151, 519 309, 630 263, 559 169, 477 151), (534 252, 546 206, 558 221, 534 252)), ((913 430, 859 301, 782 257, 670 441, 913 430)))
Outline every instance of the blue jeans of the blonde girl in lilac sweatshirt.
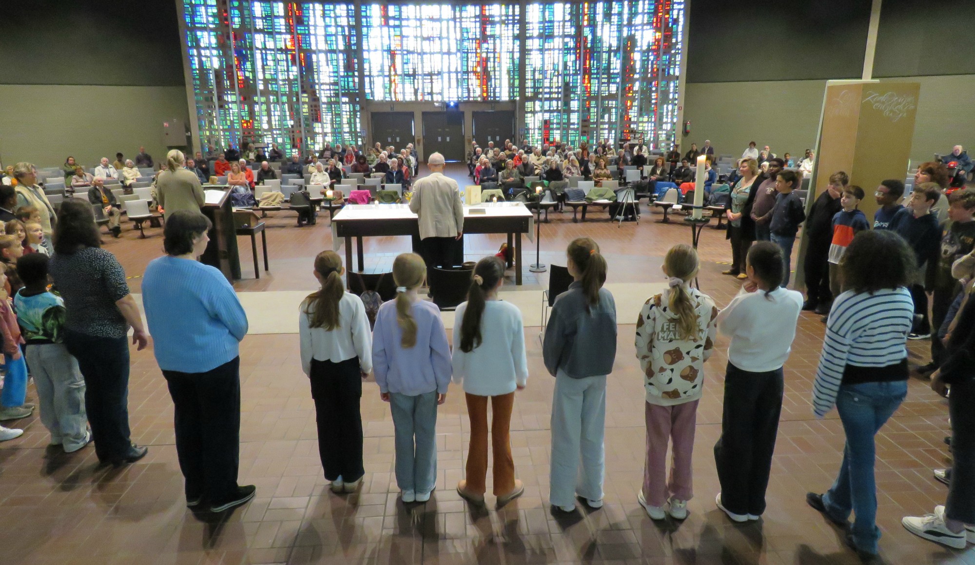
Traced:
POLYGON ((437 485, 437 391, 422 395, 390 393, 396 433, 396 484, 428 493, 437 485))

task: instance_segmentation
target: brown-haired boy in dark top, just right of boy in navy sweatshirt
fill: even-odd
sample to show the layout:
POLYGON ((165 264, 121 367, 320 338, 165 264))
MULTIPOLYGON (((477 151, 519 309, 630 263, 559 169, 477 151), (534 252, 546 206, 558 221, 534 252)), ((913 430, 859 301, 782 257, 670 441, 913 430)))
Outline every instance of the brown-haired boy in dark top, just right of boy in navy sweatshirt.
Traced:
POLYGON ((895 231, 914 249, 917 260, 917 273, 911 285, 916 321, 908 339, 931 337, 931 322, 927 318, 927 294, 924 292, 925 282, 930 283, 931 278, 925 277, 924 272, 933 268, 938 262, 941 230, 938 228, 938 217, 931 213, 931 207, 937 204, 940 198, 941 187, 933 182, 922 182, 915 187, 908 206, 898 211, 890 221, 891 225, 897 226, 895 231))

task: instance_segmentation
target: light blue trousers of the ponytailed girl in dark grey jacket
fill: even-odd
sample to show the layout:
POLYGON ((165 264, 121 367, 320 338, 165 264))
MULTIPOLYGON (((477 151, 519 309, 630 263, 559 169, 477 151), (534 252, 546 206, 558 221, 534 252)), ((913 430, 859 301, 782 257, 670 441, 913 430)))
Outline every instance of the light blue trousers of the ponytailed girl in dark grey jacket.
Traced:
POLYGON ((603 499, 605 419, 605 376, 573 379, 560 372, 552 398, 552 505, 572 506, 576 495, 603 499))

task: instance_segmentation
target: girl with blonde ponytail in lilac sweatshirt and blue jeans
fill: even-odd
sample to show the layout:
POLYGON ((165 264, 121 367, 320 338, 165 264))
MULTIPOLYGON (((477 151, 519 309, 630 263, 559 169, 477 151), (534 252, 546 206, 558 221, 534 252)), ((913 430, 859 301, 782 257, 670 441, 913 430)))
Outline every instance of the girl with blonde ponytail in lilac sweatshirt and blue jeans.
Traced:
POLYGON ((379 397, 396 434, 396 482, 403 502, 426 502, 437 483, 437 406, 447 400, 450 347, 440 309, 420 300, 426 264, 415 253, 393 261, 396 300, 384 303, 372 330, 379 397))

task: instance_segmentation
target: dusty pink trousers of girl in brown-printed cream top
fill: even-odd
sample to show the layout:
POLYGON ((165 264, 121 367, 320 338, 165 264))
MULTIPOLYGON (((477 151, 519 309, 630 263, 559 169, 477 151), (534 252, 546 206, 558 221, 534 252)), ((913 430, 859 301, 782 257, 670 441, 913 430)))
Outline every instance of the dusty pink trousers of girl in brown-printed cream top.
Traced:
POLYGON ((646 402, 646 463, 643 466, 643 498, 651 507, 662 507, 670 498, 688 501, 691 487, 691 454, 698 400, 673 406, 646 402), (667 442, 674 442, 670 482, 667 482, 667 442))

